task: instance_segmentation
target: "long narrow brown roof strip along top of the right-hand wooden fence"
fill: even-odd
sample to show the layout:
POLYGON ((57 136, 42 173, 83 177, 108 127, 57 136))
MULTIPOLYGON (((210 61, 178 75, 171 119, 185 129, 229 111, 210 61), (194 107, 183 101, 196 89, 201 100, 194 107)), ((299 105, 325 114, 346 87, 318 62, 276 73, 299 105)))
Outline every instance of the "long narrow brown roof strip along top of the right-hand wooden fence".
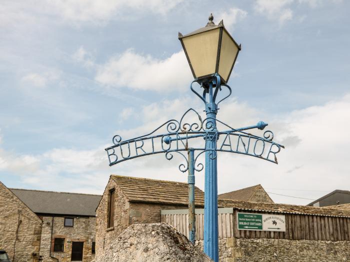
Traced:
POLYGON ((235 208, 238 210, 246 211, 262 211, 262 212, 275 212, 275 213, 290 213, 290 214, 308 214, 316 216, 334 216, 334 217, 350 217, 350 210, 335 209, 335 208, 317 208, 309 206, 296 206, 287 204, 266 204, 266 203, 254 203, 245 201, 234 200, 218 200, 218 206, 220 208, 235 208))

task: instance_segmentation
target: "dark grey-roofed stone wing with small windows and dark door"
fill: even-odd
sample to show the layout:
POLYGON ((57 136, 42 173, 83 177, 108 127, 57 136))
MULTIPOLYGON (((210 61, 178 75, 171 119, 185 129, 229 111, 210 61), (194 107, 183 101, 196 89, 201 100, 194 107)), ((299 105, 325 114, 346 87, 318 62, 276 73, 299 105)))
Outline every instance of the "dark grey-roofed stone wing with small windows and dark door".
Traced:
POLYGON ((94 259, 95 209, 101 196, 10 189, 41 220, 40 252, 43 261, 94 259))

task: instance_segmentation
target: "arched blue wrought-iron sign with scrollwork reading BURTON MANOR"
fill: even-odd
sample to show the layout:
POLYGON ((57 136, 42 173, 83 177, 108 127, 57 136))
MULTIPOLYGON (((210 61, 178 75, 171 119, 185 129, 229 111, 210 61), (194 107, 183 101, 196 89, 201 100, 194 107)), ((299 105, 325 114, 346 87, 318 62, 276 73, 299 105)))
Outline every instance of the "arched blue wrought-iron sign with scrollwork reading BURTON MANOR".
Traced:
MULTIPOLYGON (((246 132, 251 129, 263 130, 265 126, 266 123, 259 121, 256 125, 236 129, 211 117, 202 120, 198 112, 190 108, 179 121, 168 120, 146 135, 128 140, 122 140, 121 136, 115 135, 112 139, 113 145, 105 148, 105 151, 109 166, 159 153, 165 153, 168 160, 172 159, 174 152, 186 159, 181 151, 187 151, 189 148, 201 151, 195 157, 194 163, 203 152, 210 151, 210 158, 215 159, 217 151, 220 151, 249 155, 277 164, 276 154, 284 146, 272 141, 273 133, 264 131, 260 137, 246 132), (189 118, 190 122, 185 122, 185 118, 189 118), (219 131, 221 128, 223 131, 219 131), (216 147, 209 148, 208 145, 213 141, 216 141, 216 147)), ((184 171, 185 168, 182 172, 184 171)))

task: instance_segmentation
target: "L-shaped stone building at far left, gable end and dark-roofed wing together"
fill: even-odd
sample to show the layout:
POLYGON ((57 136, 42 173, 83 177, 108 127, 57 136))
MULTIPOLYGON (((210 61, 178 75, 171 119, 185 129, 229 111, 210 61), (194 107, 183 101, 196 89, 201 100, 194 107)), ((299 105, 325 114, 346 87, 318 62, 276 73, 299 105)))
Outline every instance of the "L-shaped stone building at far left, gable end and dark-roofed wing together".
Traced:
POLYGON ((95 257, 95 209, 100 199, 7 189, 0 183, 0 249, 15 262, 37 262, 39 256, 44 262, 90 262, 95 257))

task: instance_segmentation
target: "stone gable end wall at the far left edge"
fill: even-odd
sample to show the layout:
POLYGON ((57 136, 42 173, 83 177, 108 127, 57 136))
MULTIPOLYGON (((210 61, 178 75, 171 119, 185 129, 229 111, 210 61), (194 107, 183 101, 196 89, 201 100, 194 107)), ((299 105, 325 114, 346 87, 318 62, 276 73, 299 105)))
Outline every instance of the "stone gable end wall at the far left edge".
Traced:
POLYGON ((37 262, 42 221, 1 182, 0 207, 0 249, 13 262, 37 262))

